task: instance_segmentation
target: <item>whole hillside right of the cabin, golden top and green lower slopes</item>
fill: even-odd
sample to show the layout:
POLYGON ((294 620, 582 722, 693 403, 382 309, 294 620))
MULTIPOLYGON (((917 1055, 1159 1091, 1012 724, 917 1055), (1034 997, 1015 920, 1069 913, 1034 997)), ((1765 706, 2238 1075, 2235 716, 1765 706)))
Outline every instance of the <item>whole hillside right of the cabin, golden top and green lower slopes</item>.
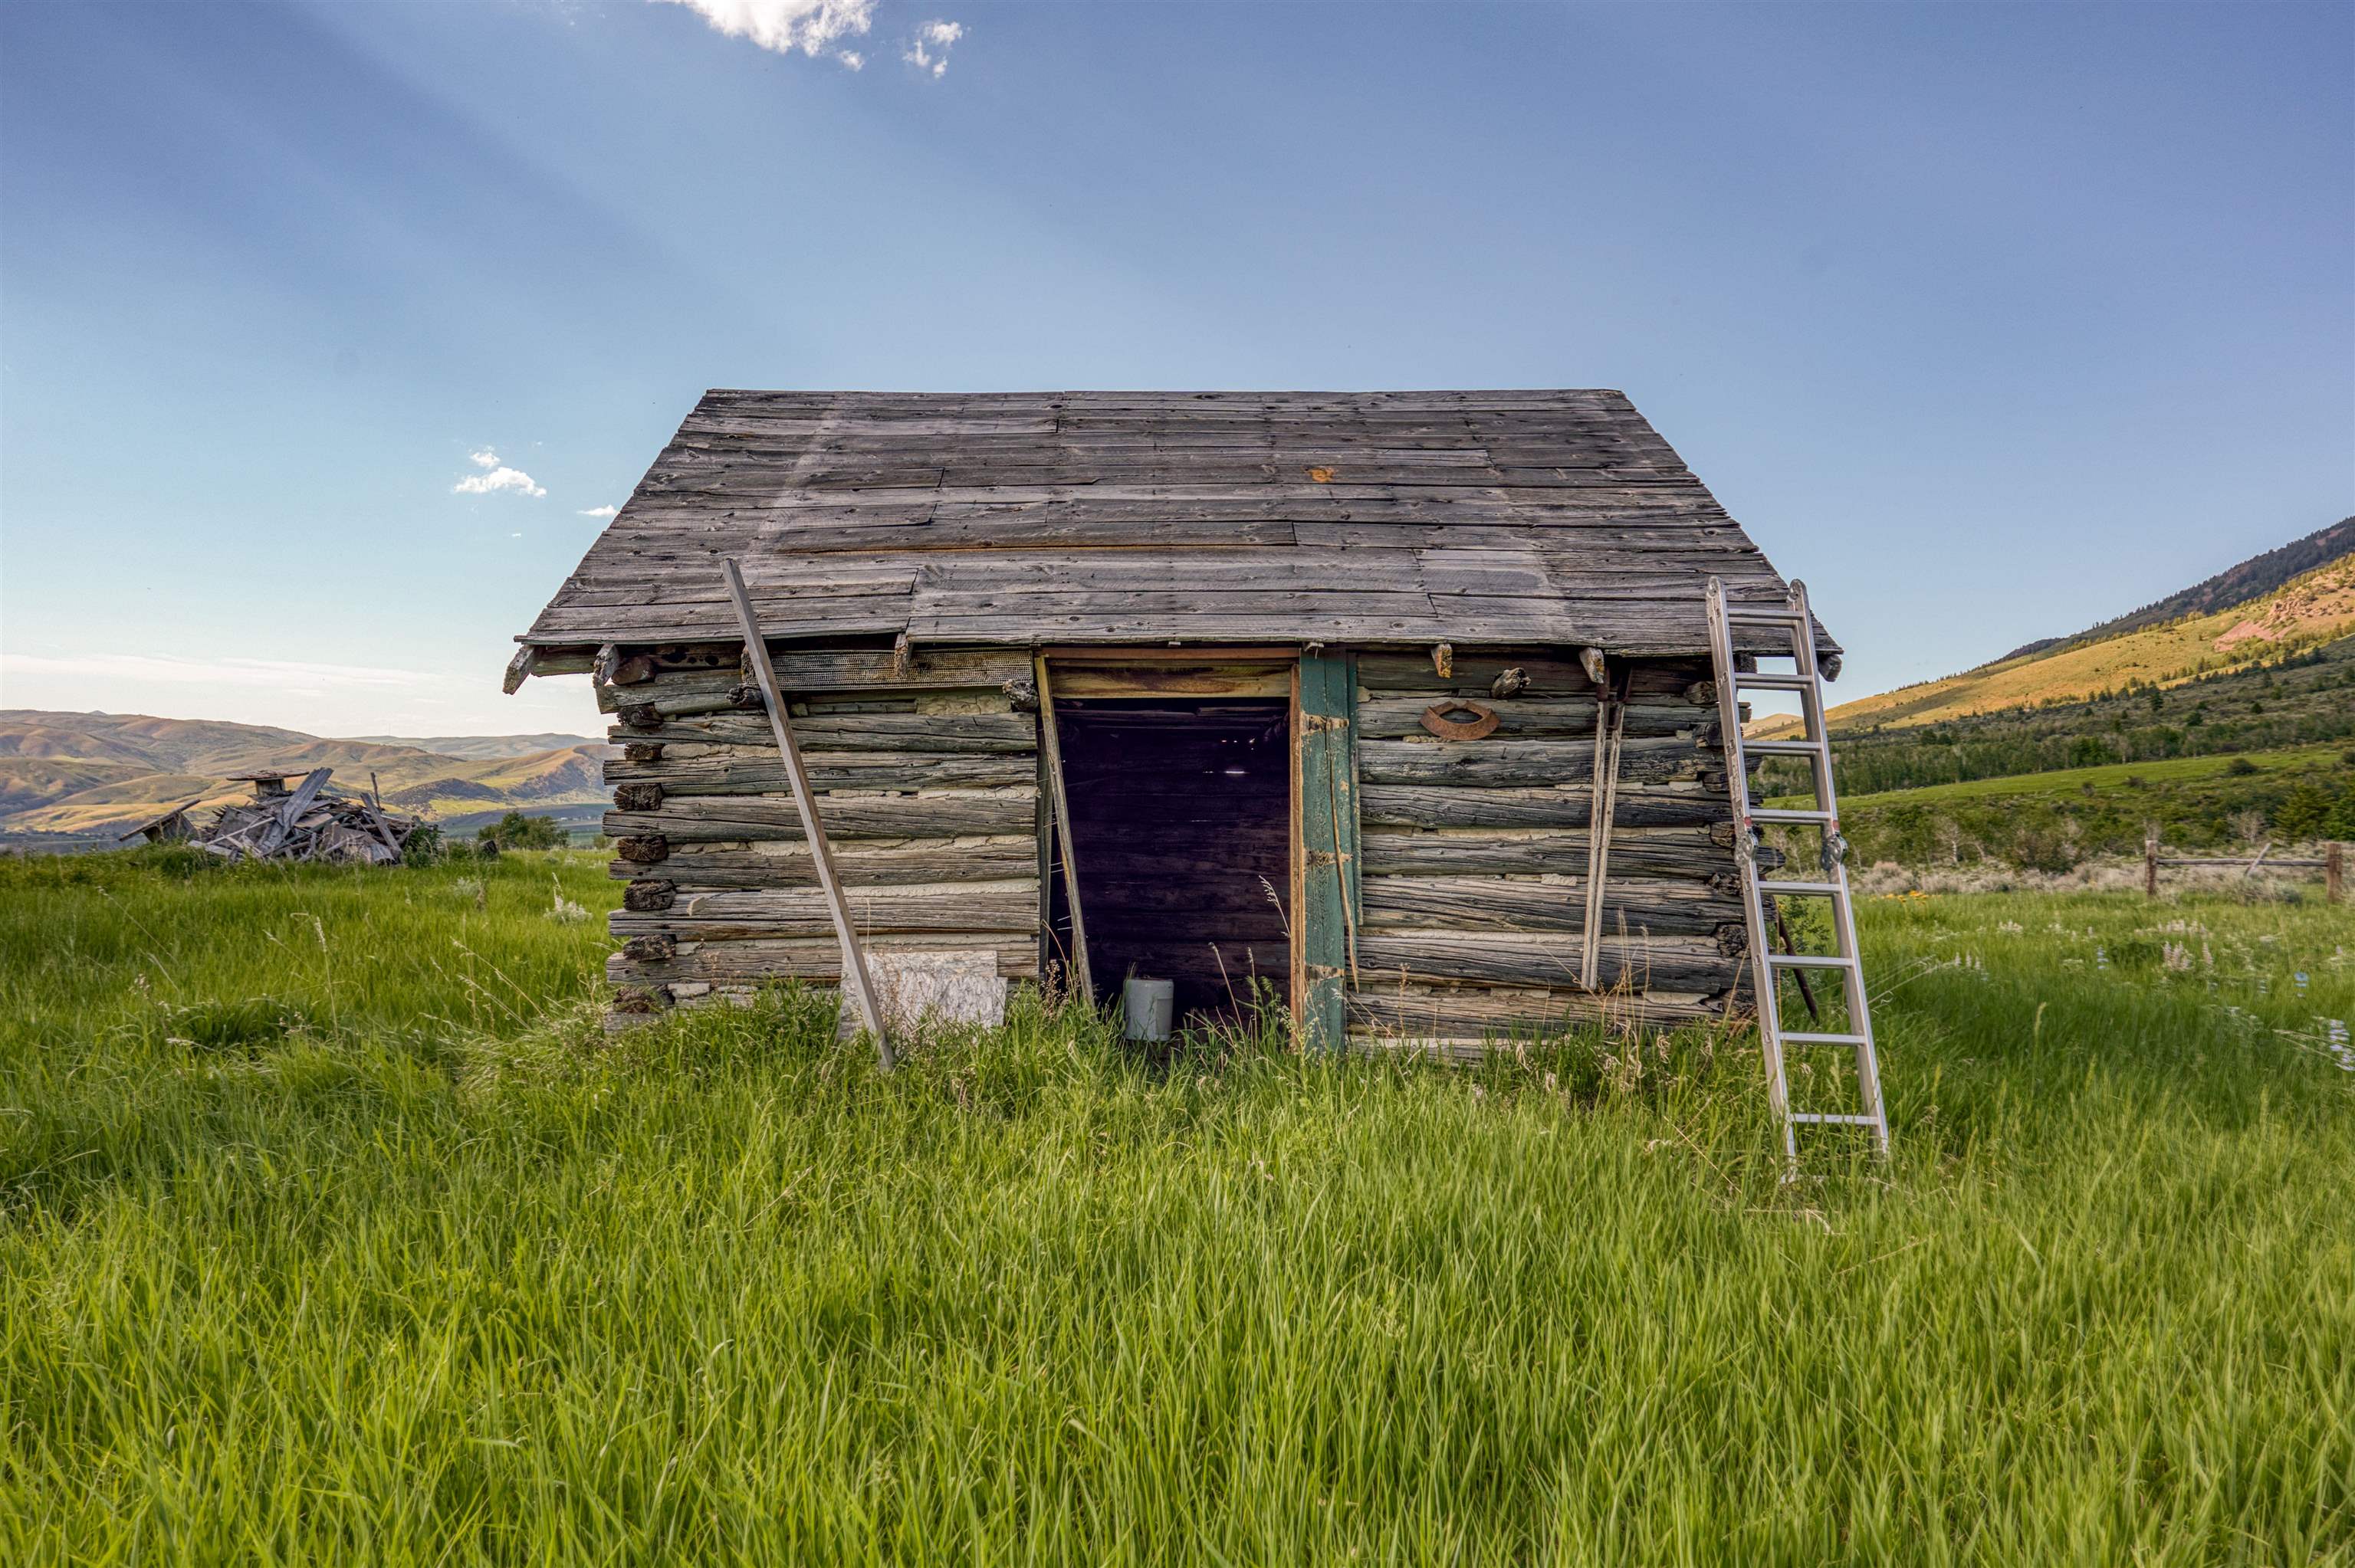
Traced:
MULTIPOLYGON (((2249 852, 2355 836, 2350 546, 2355 520, 2336 523, 2075 638, 1832 709, 1842 831, 1865 862, 2037 871, 2134 855, 2152 829, 2249 852)), ((1757 791, 1804 786, 1773 760, 1757 791)))

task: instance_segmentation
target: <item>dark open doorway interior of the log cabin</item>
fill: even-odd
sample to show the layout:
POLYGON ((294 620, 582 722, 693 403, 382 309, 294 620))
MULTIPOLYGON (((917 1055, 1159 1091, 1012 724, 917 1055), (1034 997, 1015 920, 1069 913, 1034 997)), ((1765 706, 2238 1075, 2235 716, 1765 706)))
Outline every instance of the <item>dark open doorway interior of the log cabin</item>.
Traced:
MULTIPOLYGON (((1088 970, 1175 984, 1180 1022, 1232 1012, 1253 977, 1283 998, 1291 944, 1291 706, 1262 699, 1057 702, 1088 970)), ((1069 944, 1057 878, 1050 918, 1069 944)))

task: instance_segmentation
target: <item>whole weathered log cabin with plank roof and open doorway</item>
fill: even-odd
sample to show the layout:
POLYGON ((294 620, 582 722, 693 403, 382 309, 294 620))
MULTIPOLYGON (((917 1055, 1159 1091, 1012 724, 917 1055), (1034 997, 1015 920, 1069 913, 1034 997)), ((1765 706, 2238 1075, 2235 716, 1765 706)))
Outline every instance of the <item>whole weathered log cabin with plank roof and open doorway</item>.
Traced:
POLYGON ((615 716, 622 1010, 843 972, 723 560, 878 963, 1321 1043, 1733 1003, 1703 584, 1785 584, 1623 393, 706 393, 509 666, 615 716))

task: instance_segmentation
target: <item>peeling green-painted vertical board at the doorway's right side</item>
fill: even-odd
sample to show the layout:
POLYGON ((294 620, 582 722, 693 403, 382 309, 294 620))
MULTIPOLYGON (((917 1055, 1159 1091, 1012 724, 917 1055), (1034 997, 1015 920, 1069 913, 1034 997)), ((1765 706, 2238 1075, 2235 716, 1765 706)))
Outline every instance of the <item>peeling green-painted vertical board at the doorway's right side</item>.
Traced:
POLYGON ((1356 657, 1307 650, 1293 702, 1293 841, 1300 972, 1295 1008, 1309 1050, 1349 1041, 1356 975, 1356 657))

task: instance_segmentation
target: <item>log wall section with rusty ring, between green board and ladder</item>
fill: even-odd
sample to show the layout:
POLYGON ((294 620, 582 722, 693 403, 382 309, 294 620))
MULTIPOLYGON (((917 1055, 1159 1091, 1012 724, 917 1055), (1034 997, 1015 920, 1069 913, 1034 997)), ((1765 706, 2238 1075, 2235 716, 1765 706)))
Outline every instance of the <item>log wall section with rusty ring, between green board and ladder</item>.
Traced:
POLYGON ((1594 1017, 1674 1024, 1726 1005, 1743 911, 1705 662, 1627 680, 1597 989, 1580 986, 1594 848, 1597 690, 1568 657, 1359 655, 1361 916, 1352 1038, 1470 1045, 1594 1017), (1491 683, 1524 671, 1517 697, 1491 683), (1484 739, 1422 725, 1495 711, 1484 739))

